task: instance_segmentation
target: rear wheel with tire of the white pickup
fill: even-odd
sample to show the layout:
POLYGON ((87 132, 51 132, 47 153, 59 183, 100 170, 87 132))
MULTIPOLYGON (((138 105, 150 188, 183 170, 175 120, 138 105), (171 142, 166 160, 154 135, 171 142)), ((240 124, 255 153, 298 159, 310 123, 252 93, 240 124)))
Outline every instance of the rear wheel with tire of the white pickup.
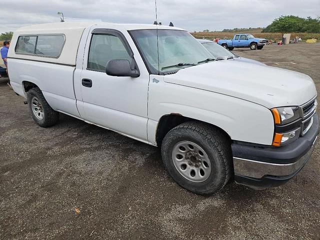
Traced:
POLYGON ((41 90, 38 87, 31 88, 30 90, 28 90, 27 103, 33 120, 39 126, 52 126, 59 120, 59 112, 53 110, 49 106, 41 90), (38 102, 39 104, 37 105, 36 102, 38 102), (38 111, 35 111, 34 108, 38 109, 38 111))

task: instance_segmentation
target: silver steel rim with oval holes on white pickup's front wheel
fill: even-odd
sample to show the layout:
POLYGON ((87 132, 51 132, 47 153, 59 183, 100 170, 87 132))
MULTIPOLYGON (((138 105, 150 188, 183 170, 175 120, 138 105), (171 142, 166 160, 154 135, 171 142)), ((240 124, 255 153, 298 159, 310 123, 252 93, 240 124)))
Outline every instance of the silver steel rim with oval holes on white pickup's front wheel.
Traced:
POLYGON ((173 146, 172 161, 176 170, 192 182, 205 181, 211 172, 208 155, 191 141, 180 141, 173 146))

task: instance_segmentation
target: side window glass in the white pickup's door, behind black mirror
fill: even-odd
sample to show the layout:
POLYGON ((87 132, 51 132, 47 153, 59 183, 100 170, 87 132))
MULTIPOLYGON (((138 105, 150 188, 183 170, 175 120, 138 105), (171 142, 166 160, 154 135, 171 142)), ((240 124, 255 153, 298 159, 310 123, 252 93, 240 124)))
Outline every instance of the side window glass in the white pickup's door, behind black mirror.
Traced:
POLYGON ((106 64, 113 59, 131 61, 131 57, 120 38, 111 34, 92 34, 87 68, 105 71, 106 64))

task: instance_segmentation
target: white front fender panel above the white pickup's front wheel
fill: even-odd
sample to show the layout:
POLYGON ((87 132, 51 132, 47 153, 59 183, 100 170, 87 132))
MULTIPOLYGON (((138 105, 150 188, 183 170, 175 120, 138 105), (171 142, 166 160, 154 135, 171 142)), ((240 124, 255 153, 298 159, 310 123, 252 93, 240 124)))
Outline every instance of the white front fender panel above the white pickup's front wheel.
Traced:
MULTIPOLYGON (((272 144, 274 125, 268 108, 229 95, 167 83, 162 76, 158 83, 149 85, 150 124, 156 126, 163 115, 171 113, 216 125, 232 140, 272 144)), ((155 142, 155 134, 156 127, 148 126, 150 142, 155 142)))

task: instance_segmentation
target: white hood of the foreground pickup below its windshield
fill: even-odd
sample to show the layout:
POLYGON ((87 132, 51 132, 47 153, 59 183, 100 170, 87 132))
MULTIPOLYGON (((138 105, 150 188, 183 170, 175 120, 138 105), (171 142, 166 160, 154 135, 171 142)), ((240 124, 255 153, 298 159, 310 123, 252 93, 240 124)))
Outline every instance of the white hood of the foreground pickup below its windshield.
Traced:
POLYGON ((163 79, 252 101, 267 108, 301 105, 317 94, 313 80, 303 73, 236 60, 183 68, 163 79))

